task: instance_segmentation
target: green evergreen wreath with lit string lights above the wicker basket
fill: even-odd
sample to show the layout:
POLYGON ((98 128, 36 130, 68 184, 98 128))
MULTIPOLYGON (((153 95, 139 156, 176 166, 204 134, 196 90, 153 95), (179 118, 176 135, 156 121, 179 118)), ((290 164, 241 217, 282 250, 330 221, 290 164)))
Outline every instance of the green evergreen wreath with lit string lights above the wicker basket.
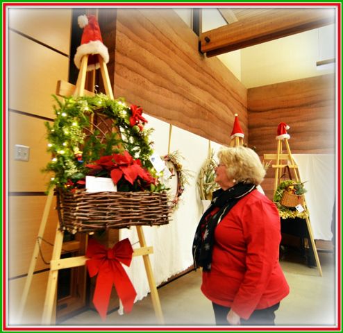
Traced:
MULTIPOLYGON (((63 97, 62 101, 56 96, 54 98, 58 104, 54 106, 56 119, 52 124, 45 122, 48 151, 52 159, 44 171, 54 173, 49 188, 56 186, 65 189, 70 182, 76 184, 85 178, 85 164, 123 151, 128 151, 134 159, 140 159, 142 167, 154 174, 149 161, 153 153, 149 135, 153 129, 146 130, 140 116, 136 116, 137 124, 133 124, 137 106, 128 107, 124 99, 112 100, 105 94, 63 97), (109 125, 111 130, 104 140, 101 140, 103 133, 100 129, 95 127, 90 133, 93 126, 90 119, 96 113, 112 120, 109 125)), ((142 113, 142 109, 140 111, 142 113)))

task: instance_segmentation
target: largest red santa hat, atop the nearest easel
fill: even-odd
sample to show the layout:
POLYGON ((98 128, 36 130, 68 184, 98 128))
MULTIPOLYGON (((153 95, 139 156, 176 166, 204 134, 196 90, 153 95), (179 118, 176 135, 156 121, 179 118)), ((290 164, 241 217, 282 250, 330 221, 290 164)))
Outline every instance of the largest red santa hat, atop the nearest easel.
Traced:
POLYGON ((107 64, 110 56, 108 55, 107 47, 103 44, 97 17, 94 15, 81 15, 78 17, 78 25, 83 28, 83 35, 81 45, 76 49, 74 56, 76 67, 80 69, 81 59, 86 54, 90 55, 88 57, 87 71, 100 67, 99 56, 107 64))

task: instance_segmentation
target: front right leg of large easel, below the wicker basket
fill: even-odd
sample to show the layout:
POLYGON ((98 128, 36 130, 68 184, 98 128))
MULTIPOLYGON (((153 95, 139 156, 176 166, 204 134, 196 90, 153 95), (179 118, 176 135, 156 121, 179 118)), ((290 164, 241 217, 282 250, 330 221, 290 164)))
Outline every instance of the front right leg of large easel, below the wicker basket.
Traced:
MULTIPOLYGON (((137 225, 137 234, 138 234, 138 239, 140 240, 140 246, 142 247, 147 246, 145 242, 143 230, 140 225, 137 225)), ((158 323, 164 324, 165 320, 162 314, 162 308, 160 304, 160 298, 158 297, 156 282, 155 282, 155 279, 153 278, 153 270, 151 268, 149 255, 143 255, 143 260, 144 260, 145 271, 147 271, 147 278, 148 278, 149 287, 150 287, 151 300, 153 302, 153 309, 155 309, 155 314, 156 314, 156 318, 158 319, 158 323)))

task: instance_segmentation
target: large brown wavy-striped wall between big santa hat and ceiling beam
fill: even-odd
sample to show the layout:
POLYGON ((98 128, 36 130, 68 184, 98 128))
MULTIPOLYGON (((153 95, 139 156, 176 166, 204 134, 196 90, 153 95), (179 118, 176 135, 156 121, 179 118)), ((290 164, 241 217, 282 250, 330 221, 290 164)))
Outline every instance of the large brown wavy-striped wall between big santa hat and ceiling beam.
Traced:
POLYGON ((221 144, 234 116, 247 136, 246 88, 173 10, 117 10, 115 97, 221 144))

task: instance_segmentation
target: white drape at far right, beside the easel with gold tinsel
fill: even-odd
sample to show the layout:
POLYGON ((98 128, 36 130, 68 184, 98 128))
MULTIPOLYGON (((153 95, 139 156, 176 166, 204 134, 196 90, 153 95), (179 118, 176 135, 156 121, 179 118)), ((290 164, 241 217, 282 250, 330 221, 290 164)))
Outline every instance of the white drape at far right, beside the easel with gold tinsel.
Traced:
POLYGON ((305 183, 306 203, 315 239, 330 241, 335 202, 335 155, 294 154, 301 181, 305 183))

